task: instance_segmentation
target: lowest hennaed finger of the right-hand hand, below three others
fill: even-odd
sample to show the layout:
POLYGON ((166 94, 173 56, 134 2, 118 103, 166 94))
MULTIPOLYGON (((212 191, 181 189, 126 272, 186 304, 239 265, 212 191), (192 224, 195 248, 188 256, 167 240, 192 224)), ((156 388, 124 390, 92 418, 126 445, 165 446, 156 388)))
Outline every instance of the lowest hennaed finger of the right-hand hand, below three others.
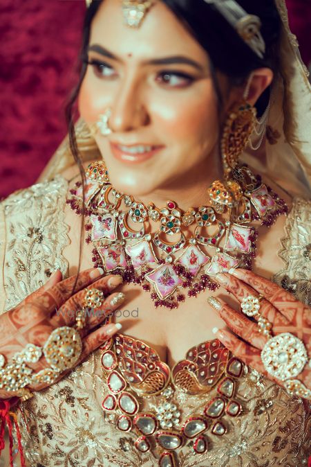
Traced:
POLYGON ((266 376, 270 380, 280 384, 278 380, 273 378, 271 375, 267 374, 265 371, 265 367, 263 366, 263 362, 261 360, 261 351, 255 349, 253 346, 246 344, 245 342, 241 341, 238 337, 232 334, 227 329, 213 329, 213 333, 216 335, 217 339, 233 353, 233 355, 237 358, 240 358, 245 364, 249 365, 253 369, 257 370, 258 373, 266 376))

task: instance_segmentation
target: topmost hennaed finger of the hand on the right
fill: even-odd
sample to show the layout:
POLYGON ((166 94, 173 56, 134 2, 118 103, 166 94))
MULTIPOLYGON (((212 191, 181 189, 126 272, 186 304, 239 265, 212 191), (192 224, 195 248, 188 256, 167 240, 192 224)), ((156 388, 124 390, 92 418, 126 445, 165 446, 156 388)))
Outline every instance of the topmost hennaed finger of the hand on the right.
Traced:
POLYGON ((265 277, 258 276, 258 274, 254 274, 254 272, 249 270, 239 268, 232 270, 231 274, 249 284, 259 294, 262 294, 288 321, 294 319, 299 302, 293 294, 287 292, 276 283, 265 279, 265 277))

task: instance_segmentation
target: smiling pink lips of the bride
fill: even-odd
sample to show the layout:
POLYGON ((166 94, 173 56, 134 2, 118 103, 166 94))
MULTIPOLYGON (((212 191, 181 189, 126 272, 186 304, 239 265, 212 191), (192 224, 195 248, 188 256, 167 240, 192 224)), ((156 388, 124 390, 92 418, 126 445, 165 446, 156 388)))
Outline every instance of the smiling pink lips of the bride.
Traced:
POLYGON ((115 158, 129 163, 146 161, 164 148, 164 146, 155 146, 143 143, 123 145, 111 142, 110 144, 115 158))

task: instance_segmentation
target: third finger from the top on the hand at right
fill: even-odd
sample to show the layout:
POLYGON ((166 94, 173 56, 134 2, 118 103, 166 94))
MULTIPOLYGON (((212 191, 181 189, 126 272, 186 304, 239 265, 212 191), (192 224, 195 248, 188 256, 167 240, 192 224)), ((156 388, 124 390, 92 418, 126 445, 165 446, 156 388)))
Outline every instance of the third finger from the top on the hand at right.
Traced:
POLYGON ((263 349, 263 346, 267 342, 267 337, 259 332, 257 323, 248 319, 243 313, 231 308, 219 297, 209 297, 207 302, 234 333, 257 349, 263 349))

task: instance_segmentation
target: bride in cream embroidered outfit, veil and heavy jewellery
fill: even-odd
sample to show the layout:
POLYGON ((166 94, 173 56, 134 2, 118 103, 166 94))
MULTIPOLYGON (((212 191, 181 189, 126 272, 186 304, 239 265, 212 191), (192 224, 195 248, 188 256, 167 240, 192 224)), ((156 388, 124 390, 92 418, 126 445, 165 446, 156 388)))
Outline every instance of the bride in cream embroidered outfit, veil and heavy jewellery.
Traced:
POLYGON ((88 1, 66 116, 0 204, 0 465, 307 465, 310 85, 283 0, 88 1))

